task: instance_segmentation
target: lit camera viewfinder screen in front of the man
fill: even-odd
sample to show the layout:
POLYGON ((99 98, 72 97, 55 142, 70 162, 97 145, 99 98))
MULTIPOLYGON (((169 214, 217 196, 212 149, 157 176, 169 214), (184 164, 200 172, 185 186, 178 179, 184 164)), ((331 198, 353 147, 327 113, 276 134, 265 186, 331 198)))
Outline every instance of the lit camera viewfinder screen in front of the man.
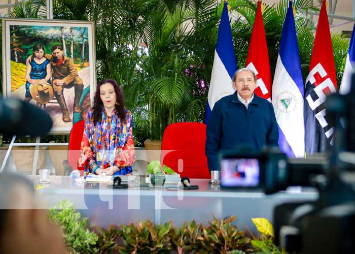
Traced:
POLYGON ((221 162, 222 186, 258 186, 259 174, 259 161, 256 158, 224 158, 221 162))

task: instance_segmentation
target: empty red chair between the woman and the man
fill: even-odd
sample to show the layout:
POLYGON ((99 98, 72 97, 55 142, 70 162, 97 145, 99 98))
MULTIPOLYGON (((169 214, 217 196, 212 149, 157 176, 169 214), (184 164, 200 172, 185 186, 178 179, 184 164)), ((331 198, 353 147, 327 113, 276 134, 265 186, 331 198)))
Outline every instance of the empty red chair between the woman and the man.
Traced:
POLYGON ((169 124, 164 130, 161 145, 162 165, 172 168, 181 177, 210 179, 205 143, 206 124, 199 122, 169 124))

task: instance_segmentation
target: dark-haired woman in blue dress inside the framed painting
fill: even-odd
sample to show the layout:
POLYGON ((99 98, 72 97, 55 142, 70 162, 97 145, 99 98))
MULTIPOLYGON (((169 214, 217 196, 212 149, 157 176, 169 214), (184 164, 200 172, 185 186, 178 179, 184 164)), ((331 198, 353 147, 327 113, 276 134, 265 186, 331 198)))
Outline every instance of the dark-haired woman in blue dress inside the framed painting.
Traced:
MULTIPOLYGON (((31 84, 50 83, 52 77, 52 68, 50 61, 45 57, 45 50, 42 44, 35 44, 32 48, 31 61, 27 61, 26 65, 26 93, 25 101, 32 100, 29 92, 31 84), (32 61, 33 60, 33 61, 32 61)), ((37 103, 37 106, 42 106, 37 103)))

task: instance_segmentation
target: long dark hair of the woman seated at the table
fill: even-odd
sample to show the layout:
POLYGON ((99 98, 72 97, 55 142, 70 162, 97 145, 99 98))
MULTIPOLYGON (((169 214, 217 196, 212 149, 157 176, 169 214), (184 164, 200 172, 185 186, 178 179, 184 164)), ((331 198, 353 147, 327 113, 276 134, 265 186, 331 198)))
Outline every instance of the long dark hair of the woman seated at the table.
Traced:
POLYGON ((125 114, 125 106, 123 102, 123 94, 122 94, 122 89, 121 87, 117 84, 117 82, 113 79, 105 79, 99 83, 97 83, 96 87, 96 92, 95 92, 95 98, 94 98, 94 107, 92 108, 93 110, 93 118, 94 118, 94 124, 96 124, 98 121, 101 121, 101 115, 102 115, 102 101, 100 98, 100 86, 106 83, 110 83, 114 86, 115 93, 116 93, 116 104, 115 104, 115 109, 120 117, 120 121, 124 121, 126 118, 125 114))

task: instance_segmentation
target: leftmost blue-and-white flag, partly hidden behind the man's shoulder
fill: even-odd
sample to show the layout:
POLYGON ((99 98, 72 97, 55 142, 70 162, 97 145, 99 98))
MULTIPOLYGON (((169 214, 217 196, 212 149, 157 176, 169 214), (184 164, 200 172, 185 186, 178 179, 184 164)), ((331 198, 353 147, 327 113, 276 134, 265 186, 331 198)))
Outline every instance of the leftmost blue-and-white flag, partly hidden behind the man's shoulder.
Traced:
POLYGON ((205 118, 206 124, 208 123, 209 116, 215 103, 221 98, 235 92, 232 78, 237 71, 237 65, 235 63, 232 30, 229 23, 227 6, 227 2, 224 2, 218 31, 215 59, 212 67, 211 82, 208 89, 205 118))

